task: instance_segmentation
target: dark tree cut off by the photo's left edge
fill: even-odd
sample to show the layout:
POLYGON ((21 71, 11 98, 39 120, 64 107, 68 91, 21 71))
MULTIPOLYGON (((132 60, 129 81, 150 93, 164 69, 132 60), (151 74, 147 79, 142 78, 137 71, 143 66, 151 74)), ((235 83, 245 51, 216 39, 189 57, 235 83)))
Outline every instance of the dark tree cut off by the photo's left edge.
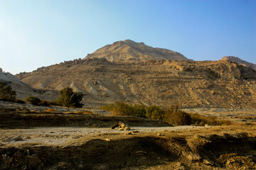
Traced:
POLYGON ((16 91, 4 82, 0 82, 0 99, 3 101, 15 101, 16 91))

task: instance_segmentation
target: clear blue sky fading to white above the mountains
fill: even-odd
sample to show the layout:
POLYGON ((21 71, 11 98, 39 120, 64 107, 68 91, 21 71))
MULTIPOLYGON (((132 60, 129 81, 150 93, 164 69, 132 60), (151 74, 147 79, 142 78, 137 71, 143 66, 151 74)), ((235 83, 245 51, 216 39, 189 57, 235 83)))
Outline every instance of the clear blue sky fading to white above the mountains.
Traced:
POLYGON ((0 0, 0 67, 17 74, 118 40, 256 63, 255 0, 0 0))

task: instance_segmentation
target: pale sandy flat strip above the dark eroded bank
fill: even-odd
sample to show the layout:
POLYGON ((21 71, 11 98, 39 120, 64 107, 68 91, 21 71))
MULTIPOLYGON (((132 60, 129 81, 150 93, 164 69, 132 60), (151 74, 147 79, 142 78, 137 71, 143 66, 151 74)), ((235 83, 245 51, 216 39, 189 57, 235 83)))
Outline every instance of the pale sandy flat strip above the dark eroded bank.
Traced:
MULTIPOLYGON (((13 130, 0 130, 1 145, 5 147, 11 147, 13 145, 25 145, 25 144, 37 144, 47 146, 63 146, 70 143, 75 143, 75 140, 79 140, 85 137, 97 138, 102 135, 127 135, 131 134, 150 134, 151 132, 159 132, 159 135, 164 132, 175 132, 181 130, 201 130, 209 129, 213 127, 202 126, 176 126, 176 127, 134 127, 131 130, 118 130, 117 128, 112 130, 110 128, 31 128, 31 129, 13 129, 13 130), (14 140, 14 137, 20 136, 20 140, 14 140)), ((106 140, 111 140, 107 139, 106 140)))

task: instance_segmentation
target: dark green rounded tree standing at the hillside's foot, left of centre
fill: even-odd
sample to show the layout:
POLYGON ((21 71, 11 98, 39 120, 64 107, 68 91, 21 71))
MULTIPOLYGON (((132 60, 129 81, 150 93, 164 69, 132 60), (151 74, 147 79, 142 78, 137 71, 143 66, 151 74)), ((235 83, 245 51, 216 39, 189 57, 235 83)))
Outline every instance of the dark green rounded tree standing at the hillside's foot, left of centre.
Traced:
POLYGON ((82 108, 82 93, 74 93, 72 89, 66 87, 60 91, 60 97, 57 99, 57 103, 60 106, 71 108, 82 108))

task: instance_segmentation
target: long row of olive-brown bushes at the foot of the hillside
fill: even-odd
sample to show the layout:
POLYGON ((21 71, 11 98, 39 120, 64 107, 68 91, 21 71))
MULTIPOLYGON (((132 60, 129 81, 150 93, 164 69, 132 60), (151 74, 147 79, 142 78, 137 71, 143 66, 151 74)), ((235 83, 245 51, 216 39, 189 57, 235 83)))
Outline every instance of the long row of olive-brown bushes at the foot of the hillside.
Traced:
POLYGON ((228 120, 219 120, 212 116, 204 116, 196 113, 186 113, 178 106, 161 108, 160 106, 129 105, 117 101, 114 104, 100 107, 103 110, 111 111, 112 115, 127 115, 140 118, 164 120, 173 125, 230 125, 228 120))

